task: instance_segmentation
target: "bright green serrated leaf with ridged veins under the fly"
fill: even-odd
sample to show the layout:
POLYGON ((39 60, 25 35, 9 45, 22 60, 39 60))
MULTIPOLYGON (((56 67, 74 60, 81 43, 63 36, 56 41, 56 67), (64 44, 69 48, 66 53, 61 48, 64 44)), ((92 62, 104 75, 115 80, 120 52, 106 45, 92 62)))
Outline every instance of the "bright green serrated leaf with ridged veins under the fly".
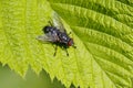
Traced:
POLYGON ((29 66, 45 69, 65 87, 132 88, 133 1, 0 1, 0 62, 21 76, 29 66), (76 48, 65 51, 35 40, 55 11, 76 48))

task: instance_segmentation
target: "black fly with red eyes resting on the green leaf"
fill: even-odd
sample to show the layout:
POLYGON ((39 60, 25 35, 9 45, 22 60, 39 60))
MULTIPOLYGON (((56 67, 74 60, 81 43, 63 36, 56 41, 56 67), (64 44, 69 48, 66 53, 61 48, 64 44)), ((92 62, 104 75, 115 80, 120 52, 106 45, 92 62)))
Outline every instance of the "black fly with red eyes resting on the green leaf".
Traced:
POLYGON ((49 21, 49 24, 50 25, 42 29, 44 35, 40 35, 37 38, 42 42, 51 42, 55 44, 55 52, 53 56, 57 54, 58 46, 64 48, 66 55, 69 56, 66 48, 69 48, 69 46, 73 46, 75 48, 75 46, 57 13, 53 14, 52 23, 49 21))

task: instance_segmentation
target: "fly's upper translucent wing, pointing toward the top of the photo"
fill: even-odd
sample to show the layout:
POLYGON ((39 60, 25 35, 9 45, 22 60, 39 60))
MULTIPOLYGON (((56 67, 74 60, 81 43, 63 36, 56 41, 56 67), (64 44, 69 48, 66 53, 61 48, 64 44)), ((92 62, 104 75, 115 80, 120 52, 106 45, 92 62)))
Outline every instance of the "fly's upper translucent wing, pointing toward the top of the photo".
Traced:
POLYGON ((53 16, 52 18, 53 25, 55 28, 58 28, 61 32, 66 33, 66 31, 65 31, 65 29, 64 29, 64 26, 62 24, 62 21, 61 21, 60 16, 58 15, 58 13, 53 12, 52 16, 53 16))

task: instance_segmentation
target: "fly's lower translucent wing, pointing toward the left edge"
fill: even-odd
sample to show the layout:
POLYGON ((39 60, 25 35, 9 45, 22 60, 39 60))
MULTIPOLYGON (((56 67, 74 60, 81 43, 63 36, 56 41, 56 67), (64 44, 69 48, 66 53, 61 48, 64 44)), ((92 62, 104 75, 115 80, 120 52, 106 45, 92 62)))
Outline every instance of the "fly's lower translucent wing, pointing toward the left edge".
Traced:
POLYGON ((39 35, 37 40, 41 42, 52 42, 52 43, 57 41, 57 38, 50 34, 39 35))

